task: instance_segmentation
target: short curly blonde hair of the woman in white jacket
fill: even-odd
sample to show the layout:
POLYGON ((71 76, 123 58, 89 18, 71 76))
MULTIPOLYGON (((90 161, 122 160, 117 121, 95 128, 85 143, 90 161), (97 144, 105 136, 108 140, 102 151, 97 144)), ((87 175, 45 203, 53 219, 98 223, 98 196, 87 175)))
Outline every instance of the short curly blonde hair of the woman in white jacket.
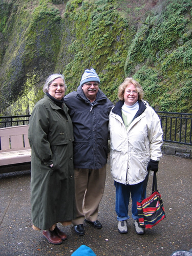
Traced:
POLYGON ((132 77, 127 77, 127 78, 125 78, 124 82, 120 84, 120 86, 118 88, 118 98, 120 100, 124 100, 125 88, 127 86, 129 86, 131 83, 133 83, 136 91, 138 92, 138 100, 143 99, 144 92, 143 92, 141 85, 136 80, 134 80, 132 77))

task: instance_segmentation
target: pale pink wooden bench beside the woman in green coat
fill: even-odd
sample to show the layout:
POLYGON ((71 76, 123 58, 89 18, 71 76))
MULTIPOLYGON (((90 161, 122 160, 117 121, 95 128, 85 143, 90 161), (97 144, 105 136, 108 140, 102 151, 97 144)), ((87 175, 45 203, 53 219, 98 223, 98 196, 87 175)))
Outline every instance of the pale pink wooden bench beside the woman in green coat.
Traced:
POLYGON ((0 129, 0 173, 31 169, 29 125, 0 129))

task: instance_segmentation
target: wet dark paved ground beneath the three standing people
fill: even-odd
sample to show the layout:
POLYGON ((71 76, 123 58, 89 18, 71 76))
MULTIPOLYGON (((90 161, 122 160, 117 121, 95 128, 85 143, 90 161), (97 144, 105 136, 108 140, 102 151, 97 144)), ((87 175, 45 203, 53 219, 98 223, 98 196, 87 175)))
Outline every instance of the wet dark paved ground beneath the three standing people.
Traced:
MULTIPOLYGON (((59 225, 68 239, 61 245, 52 245, 41 231, 31 227, 30 172, 0 175, 0 255, 71 255, 82 244, 92 248, 97 256, 169 256, 179 249, 188 251, 192 248, 192 160, 163 155, 157 179, 166 219, 147 229, 144 236, 135 233, 132 219, 128 222, 128 233, 118 232, 115 187, 108 165, 99 209, 103 228, 85 224, 86 234, 80 237, 71 226, 59 225)), ((147 196, 151 193, 151 183, 152 176, 147 196)))

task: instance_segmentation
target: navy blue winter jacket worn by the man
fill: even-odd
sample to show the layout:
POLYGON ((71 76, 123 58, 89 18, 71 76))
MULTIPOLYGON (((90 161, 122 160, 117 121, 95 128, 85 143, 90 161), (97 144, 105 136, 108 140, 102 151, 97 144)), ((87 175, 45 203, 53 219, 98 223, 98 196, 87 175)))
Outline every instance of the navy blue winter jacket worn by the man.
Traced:
POLYGON ((73 122, 75 168, 98 169, 108 157, 108 124, 113 103, 99 89, 92 106, 81 86, 64 98, 73 122))

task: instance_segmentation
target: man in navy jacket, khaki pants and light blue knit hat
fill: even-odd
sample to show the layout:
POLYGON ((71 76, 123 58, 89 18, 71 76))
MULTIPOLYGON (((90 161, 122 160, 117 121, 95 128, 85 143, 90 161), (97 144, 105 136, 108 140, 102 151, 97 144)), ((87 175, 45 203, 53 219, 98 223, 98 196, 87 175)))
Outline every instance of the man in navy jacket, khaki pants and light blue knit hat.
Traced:
POLYGON ((76 92, 64 100, 73 122, 73 153, 77 218, 75 232, 84 234, 83 221, 102 228, 97 220, 102 199, 108 157, 108 123, 113 103, 99 89, 100 79, 94 69, 82 75, 76 92))

